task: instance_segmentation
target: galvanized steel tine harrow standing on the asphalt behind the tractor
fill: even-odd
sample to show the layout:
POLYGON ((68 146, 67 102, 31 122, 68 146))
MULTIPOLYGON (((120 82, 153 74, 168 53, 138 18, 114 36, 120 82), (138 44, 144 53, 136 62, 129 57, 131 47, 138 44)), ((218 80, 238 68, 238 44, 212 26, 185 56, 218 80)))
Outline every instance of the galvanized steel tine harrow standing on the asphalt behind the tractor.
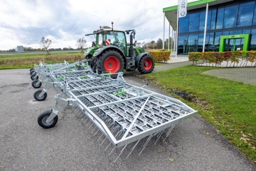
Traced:
POLYGON ((161 137, 165 141, 175 125, 197 114, 180 100, 146 90, 145 86, 127 84, 123 73, 118 73, 117 78, 112 79, 111 74, 96 74, 89 67, 81 71, 86 75, 82 79, 77 75, 66 75, 81 75, 79 72, 50 74, 53 81, 62 78, 51 83, 62 91, 55 96, 54 107, 38 116, 38 124, 43 128, 52 128, 57 123, 59 111, 72 106, 99 146, 106 145, 104 154, 109 157, 116 151, 114 162, 130 149, 128 146, 132 145, 126 159, 140 143, 143 145, 138 155, 142 154, 150 140, 154 139, 154 145, 161 137))

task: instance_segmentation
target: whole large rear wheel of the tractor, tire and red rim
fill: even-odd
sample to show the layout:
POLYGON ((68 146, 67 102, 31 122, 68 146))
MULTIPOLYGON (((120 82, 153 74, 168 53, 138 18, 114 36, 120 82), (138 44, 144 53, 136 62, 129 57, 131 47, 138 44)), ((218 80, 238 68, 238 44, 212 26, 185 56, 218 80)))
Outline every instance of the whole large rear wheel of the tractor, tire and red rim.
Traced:
POLYGON ((124 60, 121 54, 115 50, 107 50, 103 52, 96 61, 96 69, 98 73, 118 73, 123 71, 124 60))

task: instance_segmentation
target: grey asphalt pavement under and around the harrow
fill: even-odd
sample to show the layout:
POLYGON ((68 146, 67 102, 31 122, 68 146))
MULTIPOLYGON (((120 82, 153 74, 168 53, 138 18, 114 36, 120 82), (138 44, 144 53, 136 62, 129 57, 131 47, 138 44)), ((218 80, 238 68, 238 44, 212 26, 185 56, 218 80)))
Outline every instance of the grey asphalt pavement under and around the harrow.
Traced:
MULTIPOLYGON (((134 77, 136 72, 125 73, 126 82, 147 85, 134 77)), ((150 83, 147 88, 169 95, 150 83)), ((0 171, 256 171, 253 162, 199 115, 178 124, 166 141, 154 145, 156 140, 150 140, 140 155, 139 144, 126 159, 131 145, 114 163, 120 150, 108 156, 106 144, 100 146, 99 137, 71 107, 59 113, 54 128, 41 128, 38 114, 53 107, 57 92, 49 90, 47 99, 38 102, 35 91, 29 69, 0 70, 0 171)))

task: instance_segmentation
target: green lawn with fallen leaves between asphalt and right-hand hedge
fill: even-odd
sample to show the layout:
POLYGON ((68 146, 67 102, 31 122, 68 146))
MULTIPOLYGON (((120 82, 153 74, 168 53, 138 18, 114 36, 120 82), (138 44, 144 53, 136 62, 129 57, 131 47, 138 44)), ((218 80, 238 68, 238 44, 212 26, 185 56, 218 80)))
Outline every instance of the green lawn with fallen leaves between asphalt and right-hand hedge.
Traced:
POLYGON ((256 161, 256 86, 202 74, 217 69, 187 66, 144 76, 199 111, 247 157, 256 161), (173 92, 188 93, 187 100, 173 92))

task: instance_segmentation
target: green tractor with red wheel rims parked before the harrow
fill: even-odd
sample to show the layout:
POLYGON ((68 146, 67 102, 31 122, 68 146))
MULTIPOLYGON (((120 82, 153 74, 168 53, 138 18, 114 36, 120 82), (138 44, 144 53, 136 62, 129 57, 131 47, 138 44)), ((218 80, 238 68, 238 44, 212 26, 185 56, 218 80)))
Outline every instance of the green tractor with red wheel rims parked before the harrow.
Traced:
POLYGON ((138 69, 142 74, 151 73, 154 69, 154 59, 141 47, 135 46, 135 30, 117 30, 108 26, 100 26, 93 31, 96 41, 92 47, 85 51, 85 59, 98 73, 118 73, 126 69, 133 71, 138 69), (126 34, 130 34, 130 43, 126 41, 126 34))

